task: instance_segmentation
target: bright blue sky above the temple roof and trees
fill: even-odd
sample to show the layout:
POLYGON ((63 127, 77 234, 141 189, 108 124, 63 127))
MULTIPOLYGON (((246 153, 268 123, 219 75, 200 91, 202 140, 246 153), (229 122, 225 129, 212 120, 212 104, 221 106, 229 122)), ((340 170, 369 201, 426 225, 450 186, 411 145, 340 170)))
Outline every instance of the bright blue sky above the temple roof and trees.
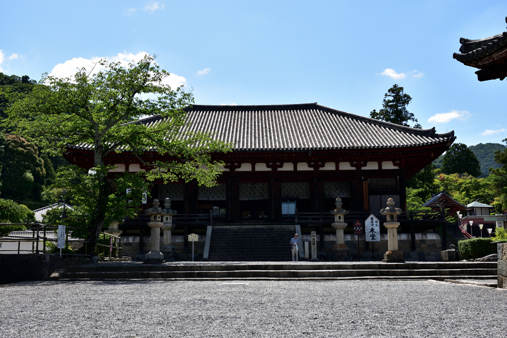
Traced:
POLYGON ((393 85, 423 128, 507 138, 505 81, 452 58, 506 29, 505 1, 4 2, 0 71, 40 80, 97 58, 157 54, 196 104, 318 102, 369 116, 393 85))

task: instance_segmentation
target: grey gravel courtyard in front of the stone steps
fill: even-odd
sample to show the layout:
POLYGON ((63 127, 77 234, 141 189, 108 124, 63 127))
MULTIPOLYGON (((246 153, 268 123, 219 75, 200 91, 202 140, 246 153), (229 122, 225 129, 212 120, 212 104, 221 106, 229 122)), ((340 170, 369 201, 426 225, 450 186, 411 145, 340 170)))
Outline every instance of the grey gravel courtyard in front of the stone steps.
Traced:
POLYGON ((3 338, 507 336, 507 291, 435 281, 24 282, 0 309, 3 338))

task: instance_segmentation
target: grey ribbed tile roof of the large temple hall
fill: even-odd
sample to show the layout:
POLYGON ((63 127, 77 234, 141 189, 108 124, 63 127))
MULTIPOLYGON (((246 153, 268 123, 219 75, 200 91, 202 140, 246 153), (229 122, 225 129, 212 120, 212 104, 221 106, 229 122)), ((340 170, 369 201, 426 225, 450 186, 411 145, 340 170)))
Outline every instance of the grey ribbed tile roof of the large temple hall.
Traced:
MULTIPOLYGON (((192 132, 212 132, 236 151, 404 148, 455 139, 454 132, 414 129, 328 108, 290 105, 193 105, 187 108, 192 132)), ((156 125, 160 117, 134 123, 156 125)), ((183 131, 183 130, 182 130, 183 131)), ((87 144, 74 146, 90 149, 87 144)))

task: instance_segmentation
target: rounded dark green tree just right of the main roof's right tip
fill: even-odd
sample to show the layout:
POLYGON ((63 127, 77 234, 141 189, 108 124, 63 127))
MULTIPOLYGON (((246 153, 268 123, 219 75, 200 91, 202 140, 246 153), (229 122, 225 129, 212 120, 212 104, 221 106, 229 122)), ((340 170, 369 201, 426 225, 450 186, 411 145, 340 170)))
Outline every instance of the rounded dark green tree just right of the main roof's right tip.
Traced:
POLYGON ((442 160, 442 172, 444 174, 464 174, 474 177, 481 175, 481 164, 464 143, 454 143, 449 147, 442 160))

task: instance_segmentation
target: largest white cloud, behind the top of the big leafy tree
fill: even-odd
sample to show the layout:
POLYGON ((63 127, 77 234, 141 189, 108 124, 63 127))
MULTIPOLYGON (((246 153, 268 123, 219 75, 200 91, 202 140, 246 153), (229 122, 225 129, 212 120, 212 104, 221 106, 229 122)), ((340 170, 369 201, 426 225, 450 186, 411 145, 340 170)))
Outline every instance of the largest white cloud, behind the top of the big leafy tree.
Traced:
MULTIPOLYGON (((54 76, 57 78, 69 78, 73 79, 74 74, 76 74, 77 70, 86 67, 91 69, 93 68, 92 73, 97 73, 101 70, 105 70, 104 66, 100 66, 97 64, 98 61, 107 60, 108 62, 121 62, 123 65, 127 65, 129 62, 138 62, 145 55, 148 55, 147 52, 139 52, 137 54, 132 53, 118 53, 118 55, 112 57, 95 57, 92 59, 84 59, 82 57, 73 58, 72 60, 67 60, 63 63, 57 64, 53 70, 49 73, 50 76, 54 76)), ((184 77, 177 76, 176 74, 170 74, 167 78, 162 80, 162 83, 165 85, 169 85, 172 89, 176 89, 179 86, 186 85, 187 79, 184 77)))

